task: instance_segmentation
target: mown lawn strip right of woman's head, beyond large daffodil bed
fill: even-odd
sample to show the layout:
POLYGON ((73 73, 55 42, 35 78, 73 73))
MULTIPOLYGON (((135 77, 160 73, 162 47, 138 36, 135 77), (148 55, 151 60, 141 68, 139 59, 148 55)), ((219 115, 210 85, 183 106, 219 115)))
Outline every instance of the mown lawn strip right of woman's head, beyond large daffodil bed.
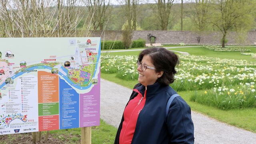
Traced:
MULTIPOLYGON (((256 53, 256 47, 246 47, 246 49, 250 49, 252 53, 256 53)), ((196 56, 207 56, 212 58, 228 58, 235 60, 248 60, 248 61, 256 61, 252 56, 241 55, 240 52, 214 52, 212 50, 207 50, 202 47, 193 47, 193 48, 172 48, 169 50, 177 50, 181 52, 188 52, 191 55, 196 56)))

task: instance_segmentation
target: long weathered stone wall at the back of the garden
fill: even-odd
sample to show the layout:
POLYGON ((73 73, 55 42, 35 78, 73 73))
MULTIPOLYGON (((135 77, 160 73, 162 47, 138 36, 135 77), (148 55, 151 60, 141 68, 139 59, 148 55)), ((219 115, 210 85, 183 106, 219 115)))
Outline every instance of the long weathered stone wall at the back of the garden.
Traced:
MULTIPOLYGON (((179 44, 183 42, 185 44, 198 44, 197 37, 200 36, 200 44, 220 44, 222 38, 221 32, 192 32, 192 31, 167 31, 167 30, 143 30, 134 31, 132 39, 143 38, 147 40, 148 34, 156 36, 156 43, 161 44, 179 44)), ((92 37, 101 36, 102 40, 105 35, 105 40, 122 40, 122 30, 106 30, 102 33, 101 30, 96 30, 92 33, 92 37)), ((229 32, 227 37, 228 45, 237 45, 236 32, 229 32)), ((246 44, 254 45, 256 42, 256 31, 252 30, 248 32, 248 39, 246 44)), ((147 42, 149 43, 149 42, 147 42)))

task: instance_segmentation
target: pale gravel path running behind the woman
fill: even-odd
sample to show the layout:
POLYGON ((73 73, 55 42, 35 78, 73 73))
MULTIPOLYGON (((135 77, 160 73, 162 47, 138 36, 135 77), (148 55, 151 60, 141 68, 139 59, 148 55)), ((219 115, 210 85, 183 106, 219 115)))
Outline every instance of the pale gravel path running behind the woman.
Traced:
MULTIPOLYGON (((119 126, 132 90, 101 79, 100 118, 119 126)), ((192 111, 195 144, 256 144, 256 133, 249 132, 192 111)))

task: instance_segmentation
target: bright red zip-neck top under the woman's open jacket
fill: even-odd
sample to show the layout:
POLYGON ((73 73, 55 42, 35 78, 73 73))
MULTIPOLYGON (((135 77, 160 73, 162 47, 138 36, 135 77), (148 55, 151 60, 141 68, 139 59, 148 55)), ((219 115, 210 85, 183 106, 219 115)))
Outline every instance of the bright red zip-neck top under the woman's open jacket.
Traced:
POLYGON ((124 109, 124 122, 120 132, 119 144, 132 143, 138 116, 146 102, 147 90, 145 90, 144 97, 142 97, 142 94, 137 89, 134 89, 134 91, 138 92, 138 95, 134 99, 130 100, 124 109))

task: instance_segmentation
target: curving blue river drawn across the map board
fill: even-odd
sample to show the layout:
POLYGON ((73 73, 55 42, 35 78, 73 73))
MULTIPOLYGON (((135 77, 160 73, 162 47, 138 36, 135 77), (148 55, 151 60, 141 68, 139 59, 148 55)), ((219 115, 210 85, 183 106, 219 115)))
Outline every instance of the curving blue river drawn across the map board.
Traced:
MULTIPOLYGON (((100 46, 99 46, 100 47, 100 46)), ((98 51, 98 56, 100 55, 100 48, 99 48, 99 51, 98 51)), ((95 66, 95 70, 94 70, 94 74, 93 74, 93 77, 95 76, 96 74, 96 68, 98 66, 98 61, 99 61, 99 58, 98 56, 96 56, 97 58, 97 62, 96 62, 96 66, 95 66)), ((52 67, 50 66, 40 66, 40 69, 42 69, 42 67, 44 69, 49 69, 49 70, 52 70, 52 67)), ((76 85, 74 82, 72 82, 69 78, 68 78, 68 70, 66 68, 64 68, 63 66, 60 67, 65 73, 66 73, 66 76, 64 74, 62 74, 61 72, 58 72, 58 75, 59 76, 62 76, 62 78, 64 78, 69 84, 71 84, 72 86, 74 86, 75 88, 77 89, 80 89, 80 90, 86 90, 87 88, 90 88, 90 86, 92 86, 92 83, 90 83, 88 86, 84 87, 84 86, 80 86, 80 85, 76 85)), ((39 66, 33 66, 31 68, 26 68, 24 70, 35 70, 35 69, 39 69, 39 66)), ((21 76, 22 74, 25 74, 25 73, 29 73, 29 72, 19 72, 18 74, 12 76, 11 78, 14 80, 15 78, 19 78, 19 76, 21 76)), ((0 85, 0 88, 4 87, 6 85, 6 83, 4 82, 3 84, 0 85)))

